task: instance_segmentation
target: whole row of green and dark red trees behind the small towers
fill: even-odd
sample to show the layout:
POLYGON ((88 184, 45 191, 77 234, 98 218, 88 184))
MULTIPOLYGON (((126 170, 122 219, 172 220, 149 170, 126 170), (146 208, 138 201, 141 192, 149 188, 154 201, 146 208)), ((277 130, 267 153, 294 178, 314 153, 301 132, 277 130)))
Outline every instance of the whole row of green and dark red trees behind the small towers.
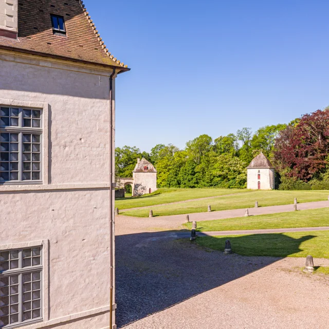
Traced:
POLYGON ((288 124, 249 127, 215 139, 204 134, 186 143, 157 144, 151 152, 116 148, 116 175, 132 177, 136 159, 157 169, 158 187, 245 188, 246 167, 263 152, 276 167, 279 189, 329 189, 329 110, 305 114, 288 124))

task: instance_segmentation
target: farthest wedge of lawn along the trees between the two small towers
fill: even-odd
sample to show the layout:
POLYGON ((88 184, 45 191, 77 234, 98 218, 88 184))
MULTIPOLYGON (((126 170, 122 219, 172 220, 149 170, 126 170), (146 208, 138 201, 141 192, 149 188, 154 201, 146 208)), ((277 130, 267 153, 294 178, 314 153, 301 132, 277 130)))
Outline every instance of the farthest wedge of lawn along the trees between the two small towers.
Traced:
POLYGON ((226 194, 250 192, 246 189, 158 189, 151 194, 131 197, 129 199, 117 198, 115 206, 119 209, 130 209, 144 206, 162 205, 171 202, 192 200, 202 197, 219 196, 226 194))

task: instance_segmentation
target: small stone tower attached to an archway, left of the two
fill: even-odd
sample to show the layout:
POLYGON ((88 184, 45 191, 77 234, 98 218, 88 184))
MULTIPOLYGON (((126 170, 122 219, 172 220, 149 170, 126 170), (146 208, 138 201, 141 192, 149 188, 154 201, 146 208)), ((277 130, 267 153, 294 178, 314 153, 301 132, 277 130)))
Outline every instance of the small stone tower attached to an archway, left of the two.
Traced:
POLYGON ((147 159, 137 159, 137 165, 133 171, 134 196, 152 193, 156 188, 156 170, 147 159))

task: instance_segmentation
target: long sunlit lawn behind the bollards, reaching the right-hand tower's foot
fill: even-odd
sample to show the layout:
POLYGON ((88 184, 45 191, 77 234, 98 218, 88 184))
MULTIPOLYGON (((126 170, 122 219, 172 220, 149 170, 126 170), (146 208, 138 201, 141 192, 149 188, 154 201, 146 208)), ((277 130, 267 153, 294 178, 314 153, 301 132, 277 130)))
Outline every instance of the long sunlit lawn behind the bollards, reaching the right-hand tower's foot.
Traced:
MULTIPOLYGON (((216 191, 212 189, 204 190, 204 196, 209 196, 208 193, 210 191, 216 191)), ((205 200, 191 200, 186 203, 182 204, 174 204, 174 205, 163 205, 163 206, 156 206, 159 204, 157 202, 157 196, 153 197, 153 203, 147 200, 147 196, 145 198, 136 198, 134 200, 126 200, 126 203, 122 202, 120 207, 116 201, 116 207, 119 209, 127 209, 129 207, 142 207, 142 206, 151 206, 153 214, 155 216, 165 216, 165 215, 175 215, 175 214, 188 214, 194 212, 205 212, 207 211, 207 205, 211 205, 212 210, 227 210, 227 209, 239 209, 239 208, 251 208, 254 207, 255 201, 258 201, 260 207, 265 206, 277 206, 277 205, 288 205, 294 203, 294 198, 298 198, 299 203, 303 202, 311 202, 311 201, 320 201, 320 200, 327 200, 329 191, 250 191, 250 190, 217 190, 222 191, 225 194, 231 193, 239 193, 236 195, 226 195, 218 198, 212 199, 205 199, 205 200), (241 192, 247 193, 241 193, 241 192), (134 205, 132 205, 131 201, 135 201, 134 205), (145 201, 147 200, 147 201, 145 201)), ((198 189, 191 189, 185 193, 192 194, 197 193, 198 189), (190 192, 189 192, 190 191, 190 192), (189 192, 189 193, 188 193, 189 192)), ((200 191, 201 192, 201 191, 200 191)), ((176 192, 172 192, 176 193, 176 192)), ((179 193, 179 191, 177 192, 179 193)), ((163 193, 159 196, 159 200, 164 199, 166 197, 166 202, 173 202, 177 200, 176 198, 170 199, 171 193, 163 193), (170 199, 171 201, 169 201, 170 199)), ((172 194, 174 195, 174 194, 172 194)), ((197 195, 197 194, 195 194, 197 195)), ((199 195, 199 194, 198 194, 199 195)), ((187 196, 187 195, 186 195, 187 196)), ((152 199, 151 196, 149 196, 152 199)), ((197 196, 201 197, 201 196, 197 196)), ((188 197, 190 198, 190 196, 188 197)), ((120 200, 121 202, 121 200, 120 200)), ((151 207, 150 207, 151 208, 151 207)), ((136 217, 148 217, 149 216, 149 209, 137 209, 137 210, 129 210, 125 211, 122 214, 128 216, 136 216, 136 217)))

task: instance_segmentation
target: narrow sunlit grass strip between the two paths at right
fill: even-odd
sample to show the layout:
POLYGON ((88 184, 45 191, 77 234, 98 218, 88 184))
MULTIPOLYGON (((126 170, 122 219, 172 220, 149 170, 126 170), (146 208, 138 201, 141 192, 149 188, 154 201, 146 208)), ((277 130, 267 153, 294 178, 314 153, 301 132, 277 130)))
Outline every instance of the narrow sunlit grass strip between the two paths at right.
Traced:
MULTIPOLYGON (((192 228, 192 223, 184 225, 188 229, 192 228)), ((197 222, 198 231, 258 230, 317 226, 329 226, 329 208, 197 222)))

